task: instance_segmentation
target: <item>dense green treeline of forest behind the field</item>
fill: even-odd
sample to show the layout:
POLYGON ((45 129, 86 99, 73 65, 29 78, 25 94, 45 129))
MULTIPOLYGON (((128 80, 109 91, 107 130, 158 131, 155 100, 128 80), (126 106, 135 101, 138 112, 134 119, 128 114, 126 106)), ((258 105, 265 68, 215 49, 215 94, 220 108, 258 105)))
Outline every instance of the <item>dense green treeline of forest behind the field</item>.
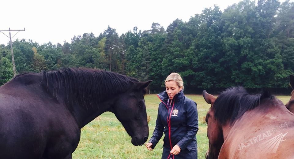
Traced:
MULTIPOLYGON (((294 4, 244 0, 222 12, 204 9, 188 22, 174 20, 166 30, 134 27, 118 35, 108 27, 99 36, 85 33, 71 43, 13 43, 17 72, 60 67, 99 68, 141 81, 153 80, 151 92, 163 90, 171 72, 183 76, 188 91, 226 88, 288 88, 294 71, 294 4)), ((0 84, 13 77, 10 45, 0 45, 0 84)))

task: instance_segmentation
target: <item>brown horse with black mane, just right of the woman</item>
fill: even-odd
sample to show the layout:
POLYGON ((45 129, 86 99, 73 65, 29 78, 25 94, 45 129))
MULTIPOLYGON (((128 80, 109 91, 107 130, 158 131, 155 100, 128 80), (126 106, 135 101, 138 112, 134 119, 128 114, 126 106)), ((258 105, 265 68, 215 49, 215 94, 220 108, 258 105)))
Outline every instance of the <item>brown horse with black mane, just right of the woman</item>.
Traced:
POLYGON ((232 87, 217 98, 203 91, 211 104, 205 121, 206 158, 294 158, 294 114, 268 92, 250 95, 232 87))

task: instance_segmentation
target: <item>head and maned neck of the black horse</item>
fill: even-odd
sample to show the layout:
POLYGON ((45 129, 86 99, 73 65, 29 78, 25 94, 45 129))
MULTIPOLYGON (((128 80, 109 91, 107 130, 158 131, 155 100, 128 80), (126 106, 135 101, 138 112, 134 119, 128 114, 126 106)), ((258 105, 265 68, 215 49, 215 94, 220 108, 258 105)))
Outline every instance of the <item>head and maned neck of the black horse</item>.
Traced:
POLYGON ((111 111, 132 137, 133 145, 146 142, 149 129, 144 94, 151 81, 139 82, 115 72, 87 68, 44 72, 42 79, 53 97, 59 95, 70 108, 82 110, 76 113, 81 116, 81 127, 111 111))

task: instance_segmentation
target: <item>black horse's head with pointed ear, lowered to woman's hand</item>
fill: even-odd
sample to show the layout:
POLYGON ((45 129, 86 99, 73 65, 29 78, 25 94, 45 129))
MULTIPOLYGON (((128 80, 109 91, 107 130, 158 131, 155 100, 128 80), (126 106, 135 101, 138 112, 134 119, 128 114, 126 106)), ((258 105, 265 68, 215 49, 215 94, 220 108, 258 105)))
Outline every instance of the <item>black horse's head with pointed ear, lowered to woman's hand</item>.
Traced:
POLYGON ((135 83, 128 91, 119 95, 112 108, 112 112, 132 137, 134 146, 143 145, 148 139, 144 94, 150 82, 152 81, 135 83))

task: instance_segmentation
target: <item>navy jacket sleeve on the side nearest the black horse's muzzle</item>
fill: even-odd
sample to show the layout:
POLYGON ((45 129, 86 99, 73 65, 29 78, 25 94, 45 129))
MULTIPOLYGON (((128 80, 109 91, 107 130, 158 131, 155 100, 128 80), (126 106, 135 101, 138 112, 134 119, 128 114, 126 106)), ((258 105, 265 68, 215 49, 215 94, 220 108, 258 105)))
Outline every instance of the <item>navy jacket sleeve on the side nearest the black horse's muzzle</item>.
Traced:
POLYGON ((149 140, 149 142, 152 143, 152 146, 151 146, 152 149, 154 149, 154 147, 156 146, 156 144, 162 137, 163 131, 164 131, 164 125, 161 123, 161 120, 160 120, 160 104, 159 104, 155 129, 153 131, 153 135, 151 139, 149 140))

